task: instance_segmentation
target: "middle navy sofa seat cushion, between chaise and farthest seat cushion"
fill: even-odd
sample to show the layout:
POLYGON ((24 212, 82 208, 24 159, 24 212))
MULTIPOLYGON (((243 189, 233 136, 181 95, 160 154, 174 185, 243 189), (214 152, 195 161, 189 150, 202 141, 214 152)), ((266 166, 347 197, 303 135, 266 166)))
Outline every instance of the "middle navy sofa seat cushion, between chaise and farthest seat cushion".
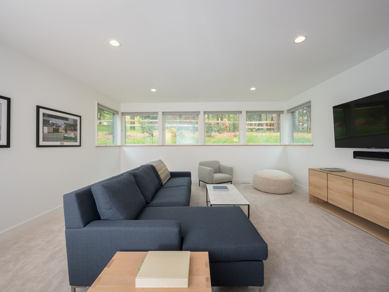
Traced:
POLYGON ((189 206, 190 200, 187 186, 161 188, 146 207, 189 206))

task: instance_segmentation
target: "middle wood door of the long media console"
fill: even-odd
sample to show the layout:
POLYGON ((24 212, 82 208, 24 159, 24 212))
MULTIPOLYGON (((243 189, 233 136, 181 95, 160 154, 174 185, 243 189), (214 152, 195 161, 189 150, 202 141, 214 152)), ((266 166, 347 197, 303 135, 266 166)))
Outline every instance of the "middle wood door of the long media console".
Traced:
POLYGON ((353 179, 328 174, 328 202, 353 212, 353 179))

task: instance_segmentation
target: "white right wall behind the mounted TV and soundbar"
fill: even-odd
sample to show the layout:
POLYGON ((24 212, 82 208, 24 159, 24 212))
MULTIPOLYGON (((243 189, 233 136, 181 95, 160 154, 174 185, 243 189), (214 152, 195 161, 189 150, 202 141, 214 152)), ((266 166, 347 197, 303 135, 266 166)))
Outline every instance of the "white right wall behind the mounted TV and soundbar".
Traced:
MULTIPOLYGON (((309 167, 340 167, 389 178, 389 162, 353 158, 354 150, 335 148, 332 107, 389 90, 389 50, 305 91, 286 102, 287 108, 312 101, 313 147, 287 147, 290 172, 297 183, 308 186, 309 167)), ((376 151, 389 151, 380 149, 376 151)))

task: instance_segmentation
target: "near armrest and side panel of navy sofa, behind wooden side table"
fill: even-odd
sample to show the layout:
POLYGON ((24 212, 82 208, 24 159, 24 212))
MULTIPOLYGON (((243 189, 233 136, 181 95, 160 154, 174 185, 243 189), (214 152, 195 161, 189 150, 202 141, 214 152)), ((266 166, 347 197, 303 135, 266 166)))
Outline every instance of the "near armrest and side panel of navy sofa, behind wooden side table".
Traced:
POLYGON ((65 230, 71 286, 90 286, 118 251, 179 251, 181 223, 173 220, 96 220, 65 230))

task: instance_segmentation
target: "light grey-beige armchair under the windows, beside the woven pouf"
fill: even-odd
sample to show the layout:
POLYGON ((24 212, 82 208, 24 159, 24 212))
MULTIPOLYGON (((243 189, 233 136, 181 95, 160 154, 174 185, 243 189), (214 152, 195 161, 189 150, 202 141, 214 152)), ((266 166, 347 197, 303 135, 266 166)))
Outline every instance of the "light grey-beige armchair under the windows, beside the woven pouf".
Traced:
POLYGON ((203 183, 232 183, 233 168, 217 160, 198 163, 198 185, 203 183))

